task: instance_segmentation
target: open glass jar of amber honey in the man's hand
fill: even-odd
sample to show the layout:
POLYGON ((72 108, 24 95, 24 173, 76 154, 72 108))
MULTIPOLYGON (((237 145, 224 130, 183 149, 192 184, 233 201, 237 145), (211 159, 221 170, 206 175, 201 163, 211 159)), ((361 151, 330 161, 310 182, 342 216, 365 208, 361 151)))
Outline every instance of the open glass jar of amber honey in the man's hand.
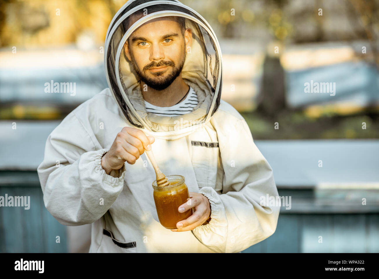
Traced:
POLYGON ((180 213, 179 206, 189 199, 188 188, 184 183, 184 177, 180 175, 166 176, 169 185, 157 186, 157 180, 153 182, 153 197, 157 208, 158 219, 166 229, 177 229, 176 223, 187 219, 192 215, 192 208, 180 213))

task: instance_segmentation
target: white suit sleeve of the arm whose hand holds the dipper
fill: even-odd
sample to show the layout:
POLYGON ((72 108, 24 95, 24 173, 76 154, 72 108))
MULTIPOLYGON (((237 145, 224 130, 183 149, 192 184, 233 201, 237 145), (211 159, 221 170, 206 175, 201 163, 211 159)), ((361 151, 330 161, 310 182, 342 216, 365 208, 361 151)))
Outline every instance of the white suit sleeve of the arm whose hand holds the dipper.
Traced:
POLYGON ((101 158, 108 151, 96 148, 94 136, 74 113, 47 138, 44 160, 37 172, 45 207, 61 224, 93 223, 116 201, 126 170, 124 164, 120 170, 106 174, 101 158))

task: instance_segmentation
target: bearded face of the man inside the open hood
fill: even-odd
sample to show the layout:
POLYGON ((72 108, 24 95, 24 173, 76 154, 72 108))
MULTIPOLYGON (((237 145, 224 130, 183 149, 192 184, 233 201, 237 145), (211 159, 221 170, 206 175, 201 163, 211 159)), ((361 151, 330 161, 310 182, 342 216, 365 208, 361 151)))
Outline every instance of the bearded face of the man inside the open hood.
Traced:
POLYGON ((167 88, 181 72, 192 31, 172 18, 157 18, 141 25, 124 44, 125 55, 139 78, 156 90, 167 88))

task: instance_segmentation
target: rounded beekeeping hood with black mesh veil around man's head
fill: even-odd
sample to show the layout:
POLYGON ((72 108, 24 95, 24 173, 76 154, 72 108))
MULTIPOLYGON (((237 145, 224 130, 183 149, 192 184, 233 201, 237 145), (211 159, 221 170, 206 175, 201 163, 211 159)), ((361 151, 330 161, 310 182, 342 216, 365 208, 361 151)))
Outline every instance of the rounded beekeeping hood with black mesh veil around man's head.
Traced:
POLYGON ((109 88, 128 122, 148 135, 174 139, 209 122, 220 104, 221 66, 220 47, 212 28, 179 1, 130 0, 116 13, 107 31, 105 72, 109 88), (179 116, 158 116, 146 111, 139 77, 123 50, 125 41, 138 27, 167 16, 183 17, 185 28, 192 30, 182 78, 196 92, 198 104, 190 113, 179 116))

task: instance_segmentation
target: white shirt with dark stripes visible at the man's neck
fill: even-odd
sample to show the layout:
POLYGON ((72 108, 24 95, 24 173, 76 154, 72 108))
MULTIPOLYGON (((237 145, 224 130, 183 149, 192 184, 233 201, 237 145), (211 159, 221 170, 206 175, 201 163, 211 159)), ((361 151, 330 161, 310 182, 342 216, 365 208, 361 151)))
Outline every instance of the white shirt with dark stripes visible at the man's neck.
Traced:
POLYGON ((182 102, 171 107, 157 107, 145 101, 146 111, 160 116, 178 116, 190 113, 196 107, 198 101, 194 89, 189 87, 188 91, 186 98, 182 102))

